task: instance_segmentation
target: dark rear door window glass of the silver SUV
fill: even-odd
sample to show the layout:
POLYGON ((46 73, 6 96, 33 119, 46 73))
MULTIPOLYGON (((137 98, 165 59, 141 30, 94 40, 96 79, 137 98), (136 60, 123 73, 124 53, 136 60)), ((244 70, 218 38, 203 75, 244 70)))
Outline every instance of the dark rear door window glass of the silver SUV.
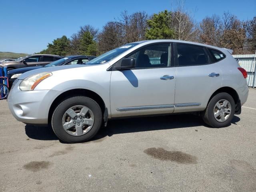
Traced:
POLYGON ((178 66, 195 66, 209 63, 203 47, 177 44, 178 66))

